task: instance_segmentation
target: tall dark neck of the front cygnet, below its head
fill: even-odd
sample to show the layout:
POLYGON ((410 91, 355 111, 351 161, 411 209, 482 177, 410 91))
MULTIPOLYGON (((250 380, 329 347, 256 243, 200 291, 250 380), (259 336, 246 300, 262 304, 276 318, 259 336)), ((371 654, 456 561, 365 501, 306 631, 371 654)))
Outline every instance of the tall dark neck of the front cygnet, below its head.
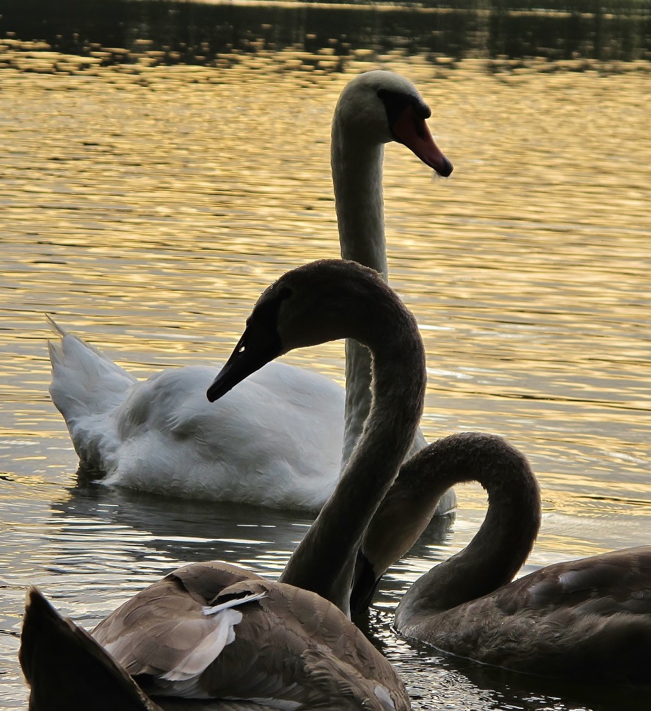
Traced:
MULTIPOLYGON (((370 311, 371 306, 366 309, 370 311)), ((346 614, 357 549, 407 454, 426 384, 423 343, 416 321, 402 304, 394 301, 383 310, 364 340, 373 353, 369 416, 333 495, 280 578, 320 594, 346 614)))

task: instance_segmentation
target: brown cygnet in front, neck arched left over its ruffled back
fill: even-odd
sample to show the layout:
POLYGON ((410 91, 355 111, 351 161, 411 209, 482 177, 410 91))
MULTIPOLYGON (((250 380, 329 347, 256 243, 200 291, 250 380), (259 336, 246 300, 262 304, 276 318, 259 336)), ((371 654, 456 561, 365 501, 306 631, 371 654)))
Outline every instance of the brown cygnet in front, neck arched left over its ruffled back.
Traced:
MULTIPOLYGON (((414 317, 376 272, 356 262, 299 267, 262 294, 208 395, 223 397, 291 348, 346 336, 373 353, 370 414, 283 580, 268 582, 225 563, 187 565, 119 607, 92 638, 61 620, 33 589, 20 651, 32 711, 78 708, 80 696, 93 708, 107 700, 117 707, 125 696, 135 709, 151 708, 127 675, 161 705, 163 697, 195 697, 284 709, 409 709, 397 674, 348 617, 286 581, 306 573, 316 575, 317 585, 332 587, 342 577, 409 451, 426 385, 414 317), (73 665, 60 653, 70 643, 73 665), (102 673, 92 673, 98 664, 102 673), (95 705, 95 679, 104 675, 117 680, 119 697, 111 698, 109 683, 95 705)), ((344 577, 351 575, 348 570, 344 577)), ((350 590, 350 584, 343 587, 350 590)), ((231 708, 226 702, 223 707, 231 708)))

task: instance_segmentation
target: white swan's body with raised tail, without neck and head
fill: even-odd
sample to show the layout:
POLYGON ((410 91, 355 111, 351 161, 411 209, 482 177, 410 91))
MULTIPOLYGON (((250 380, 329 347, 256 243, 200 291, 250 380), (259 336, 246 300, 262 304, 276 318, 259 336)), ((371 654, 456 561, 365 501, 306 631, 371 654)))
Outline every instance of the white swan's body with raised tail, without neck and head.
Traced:
POLYGON ((104 483, 305 510, 332 493, 344 391, 329 378, 269 363, 212 405, 205 390, 214 366, 168 368, 138 381, 53 327, 60 340, 49 344, 50 393, 81 466, 106 472, 104 483))

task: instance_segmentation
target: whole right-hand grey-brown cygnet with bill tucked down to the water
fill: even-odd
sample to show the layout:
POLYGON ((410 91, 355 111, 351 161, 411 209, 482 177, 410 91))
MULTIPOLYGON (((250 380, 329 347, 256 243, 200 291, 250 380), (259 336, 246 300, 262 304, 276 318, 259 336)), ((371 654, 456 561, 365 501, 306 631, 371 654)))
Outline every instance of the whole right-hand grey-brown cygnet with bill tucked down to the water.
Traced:
POLYGON ((436 498, 463 481, 488 491, 488 513, 466 548, 409 587, 402 635, 483 663, 539 675, 649 684, 651 546, 547 565, 510 582, 540 525, 527 459, 501 437, 463 432, 431 444, 400 470, 365 535, 353 609, 409 550, 436 498))

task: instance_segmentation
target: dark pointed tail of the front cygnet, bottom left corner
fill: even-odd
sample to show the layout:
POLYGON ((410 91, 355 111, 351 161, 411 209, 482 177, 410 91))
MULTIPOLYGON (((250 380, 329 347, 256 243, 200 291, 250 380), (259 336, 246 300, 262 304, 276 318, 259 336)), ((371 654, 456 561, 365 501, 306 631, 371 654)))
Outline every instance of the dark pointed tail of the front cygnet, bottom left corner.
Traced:
POLYGON ((27 593, 18 659, 31 687, 31 711, 161 711, 81 627, 35 587, 27 593))

